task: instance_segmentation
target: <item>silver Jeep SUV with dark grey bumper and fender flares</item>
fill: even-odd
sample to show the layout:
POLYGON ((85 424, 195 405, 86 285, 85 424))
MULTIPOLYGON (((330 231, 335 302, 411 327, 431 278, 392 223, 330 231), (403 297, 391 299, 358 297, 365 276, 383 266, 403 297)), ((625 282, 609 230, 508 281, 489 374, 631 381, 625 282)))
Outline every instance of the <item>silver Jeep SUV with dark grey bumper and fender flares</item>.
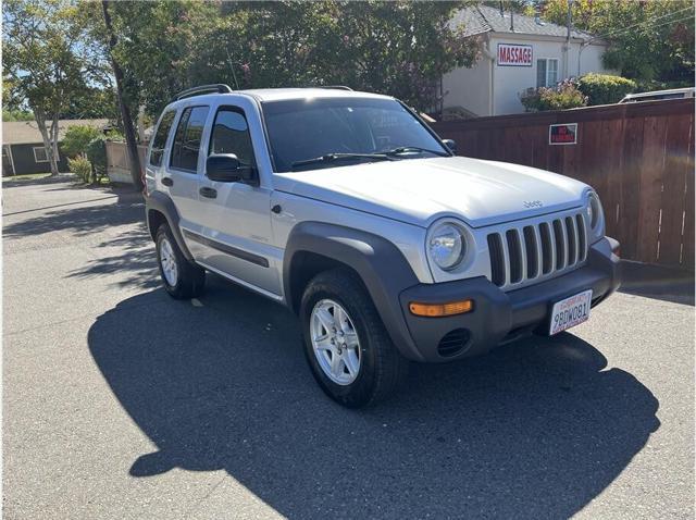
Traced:
POLYGON ((164 287, 198 296, 212 271, 288 306, 314 377, 349 407, 409 361, 587 320, 620 283, 594 190, 453 149, 387 96, 184 91, 146 166, 164 287))

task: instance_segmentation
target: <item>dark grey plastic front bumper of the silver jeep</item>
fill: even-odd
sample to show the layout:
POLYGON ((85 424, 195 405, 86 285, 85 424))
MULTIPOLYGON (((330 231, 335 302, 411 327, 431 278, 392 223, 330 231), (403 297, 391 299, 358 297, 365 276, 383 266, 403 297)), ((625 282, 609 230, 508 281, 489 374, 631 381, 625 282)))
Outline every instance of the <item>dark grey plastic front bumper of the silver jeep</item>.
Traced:
POLYGON ((401 351, 413 360, 443 362, 486 352, 537 330, 546 331, 554 302, 592 289, 594 307, 620 286, 618 248, 619 243, 605 237, 592 246, 582 268, 509 293, 483 276, 410 287, 398 298, 412 339, 411 348, 401 351), (409 311, 411 301, 442 304, 462 298, 474 300, 473 311, 447 318, 417 317, 409 311), (438 350, 449 333, 452 334, 446 339, 448 348, 438 350))

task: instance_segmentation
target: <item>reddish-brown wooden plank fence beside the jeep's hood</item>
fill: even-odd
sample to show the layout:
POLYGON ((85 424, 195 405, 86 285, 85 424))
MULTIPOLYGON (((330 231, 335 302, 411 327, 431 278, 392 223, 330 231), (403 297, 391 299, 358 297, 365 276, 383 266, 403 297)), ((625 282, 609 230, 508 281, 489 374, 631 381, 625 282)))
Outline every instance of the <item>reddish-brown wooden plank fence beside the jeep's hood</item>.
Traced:
POLYGON ((694 268, 694 99, 433 123, 461 156, 515 162, 595 187, 630 260, 694 268), (576 145, 549 125, 577 123, 576 145))

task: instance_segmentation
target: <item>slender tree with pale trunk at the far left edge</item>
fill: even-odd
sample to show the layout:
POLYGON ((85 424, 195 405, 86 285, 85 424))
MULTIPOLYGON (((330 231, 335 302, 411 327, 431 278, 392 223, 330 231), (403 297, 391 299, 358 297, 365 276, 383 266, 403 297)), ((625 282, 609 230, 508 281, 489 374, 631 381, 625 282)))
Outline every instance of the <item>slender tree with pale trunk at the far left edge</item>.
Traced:
POLYGON ((75 23, 75 8, 58 0, 8 0, 2 20, 10 107, 32 110, 51 175, 58 175, 58 122, 91 74, 80 45, 83 27, 75 23))

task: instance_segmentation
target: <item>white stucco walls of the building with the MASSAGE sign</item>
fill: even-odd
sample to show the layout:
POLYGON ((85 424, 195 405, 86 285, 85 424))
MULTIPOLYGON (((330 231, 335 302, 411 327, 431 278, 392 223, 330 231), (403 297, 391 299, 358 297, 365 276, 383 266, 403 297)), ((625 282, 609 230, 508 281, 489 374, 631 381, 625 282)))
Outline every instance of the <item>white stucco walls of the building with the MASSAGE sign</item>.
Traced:
POLYGON ((600 45, 586 46, 582 52, 579 41, 571 42, 569 51, 568 75, 563 75, 563 45, 561 39, 532 38, 523 35, 490 36, 489 49, 495 55, 498 44, 531 45, 533 47, 532 66, 494 66, 494 102, 493 113, 489 111, 488 84, 489 60, 482 60, 473 69, 459 69, 443 77, 445 90, 444 107, 463 107, 477 115, 501 115, 524 112, 519 94, 526 88, 536 87, 536 60, 551 58, 559 60, 558 79, 588 72, 613 74, 604 67, 601 55, 605 47, 600 45))

